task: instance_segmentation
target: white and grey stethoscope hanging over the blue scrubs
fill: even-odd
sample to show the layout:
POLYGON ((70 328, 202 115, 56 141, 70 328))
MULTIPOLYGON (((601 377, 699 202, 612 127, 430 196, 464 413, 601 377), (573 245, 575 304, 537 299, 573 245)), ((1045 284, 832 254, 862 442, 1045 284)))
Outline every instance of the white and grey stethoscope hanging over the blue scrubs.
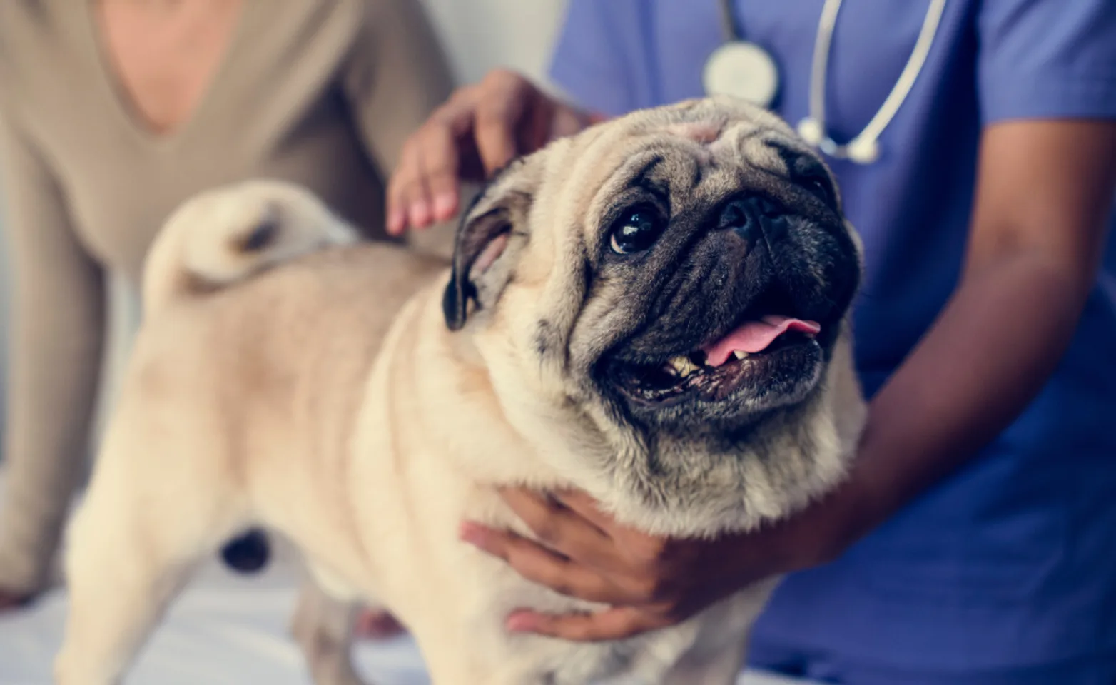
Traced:
MULTIPOLYGON (((911 93, 922 71, 937 26, 945 11, 945 0, 930 0, 918 39, 887 99, 859 134, 845 145, 838 144, 826 129, 826 79, 829 69, 829 47, 841 0, 826 0, 818 21, 810 67, 810 113, 798 124, 798 135, 808 144, 836 160, 872 164, 879 157, 879 136, 911 93)), ((771 54, 757 44, 744 40, 737 27, 734 0, 721 0, 721 22, 725 40, 705 62, 703 80, 709 95, 730 95, 770 107, 779 90, 779 68, 771 54)))

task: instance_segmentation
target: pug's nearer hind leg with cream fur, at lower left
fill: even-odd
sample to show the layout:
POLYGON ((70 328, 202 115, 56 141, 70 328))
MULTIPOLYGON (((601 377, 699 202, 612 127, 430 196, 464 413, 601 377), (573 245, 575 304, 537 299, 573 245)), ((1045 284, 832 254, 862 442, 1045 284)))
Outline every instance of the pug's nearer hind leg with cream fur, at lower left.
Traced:
POLYGON ((198 461, 180 454, 176 435, 150 441, 138 426, 114 427, 69 527, 59 685, 117 683, 191 569, 237 523, 222 520, 217 489, 176 466, 198 461), (152 454, 153 445, 174 453, 152 454))

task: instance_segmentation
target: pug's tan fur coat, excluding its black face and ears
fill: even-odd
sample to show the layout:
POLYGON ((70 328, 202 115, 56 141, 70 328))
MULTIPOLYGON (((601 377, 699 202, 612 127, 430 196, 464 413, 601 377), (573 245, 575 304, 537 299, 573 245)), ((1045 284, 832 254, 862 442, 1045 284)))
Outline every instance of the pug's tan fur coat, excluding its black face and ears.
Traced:
POLYGON ((571 386, 590 361, 593 330, 581 327, 608 305, 571 305, 571 250, 591 238, 589 219, 616 192, 616 170, 653 146, 723 154, 718 146, 747 147, 734 136, 764 127, 789 136, 770 115, 686 104, 559 141, 506 173, 497 195, 533 194, 530 240, 509 241, 514 282, 499 306, 473 312, 456 334, 443 319, 443 263, 375 245, 306 254, 348 241, 297 189, 223 189, 184 208, 151 255, 145 291, 155 310, 71 527, 58 682, 115 683, 191 566, 256 524, 292 540, 326 591, 308 590, 296 621, 323 685, 356 682, 346 618, 356 600, 383 601, 408 626, 435 685, 734 682, 775 580, 675 628, 568 644, 509 635, 503 618, 521 606, 589 605, 522 580, 456 533, 466 519, 522 531, 496 494, 501 484, 574 485, 646 530, 713 534, 786 515, 837 482, 864 415, 845 337, 825 392, 791 426, 814 448, 775 436, 786 467, 756 467, 757 488, 731 515, 658 510, 636 496, 626 467, 603 464, 627 463, 613 455, 634 454, 638 436, 571 386), (249 260, 230 238, 244 235, 244 218, 276 208, 289 242, 249 260), (210 252, 191 262, 198 250, 210 252), (189 284, 258 270, 215 291, 189 284), (566 341, 566 363, 540 360, 540 312, 566 341))

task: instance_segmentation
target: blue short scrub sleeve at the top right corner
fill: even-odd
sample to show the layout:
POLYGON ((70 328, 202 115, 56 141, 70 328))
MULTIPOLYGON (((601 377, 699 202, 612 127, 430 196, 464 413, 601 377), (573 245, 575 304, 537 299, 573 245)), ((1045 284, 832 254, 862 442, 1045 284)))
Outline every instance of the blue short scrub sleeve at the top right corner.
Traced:
POLYGON ((985 124, 1116 118, 1116 0, 984 0, 980 8, 985 124))

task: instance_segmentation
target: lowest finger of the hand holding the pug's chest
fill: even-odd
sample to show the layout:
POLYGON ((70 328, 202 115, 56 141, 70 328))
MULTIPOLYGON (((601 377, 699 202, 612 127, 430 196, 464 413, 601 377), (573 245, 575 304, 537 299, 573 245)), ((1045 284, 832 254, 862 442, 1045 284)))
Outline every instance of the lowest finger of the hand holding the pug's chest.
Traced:
POLYGON ((606 609, 597 614, 539 614, 514 611, 506 626, 512 633, 536 633, 575 643, 594 643, 634 637, 673 623, 632 607, 606 609))

